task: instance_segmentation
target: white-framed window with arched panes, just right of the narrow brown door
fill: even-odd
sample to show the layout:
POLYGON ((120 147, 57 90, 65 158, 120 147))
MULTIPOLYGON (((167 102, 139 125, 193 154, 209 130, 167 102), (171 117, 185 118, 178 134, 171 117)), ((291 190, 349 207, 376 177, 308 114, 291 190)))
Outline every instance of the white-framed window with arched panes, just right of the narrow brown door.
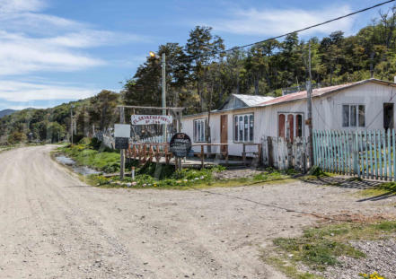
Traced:
POLYGON ((242 114, 234 114, 233 115, 233 143, 235 144, 244 144, 244 143, 253 143, 254 142, 254 113, 242 113, 242 114), (253 117, 253 118, 251 118, 253 117), (247 118, 247 123, 245 123, 245 119, 247 118), (251 126, 251 119, 252 125, 251 126), (242 123, 242 126, 240 126, 242 123), (238 134, 237 134, 238 133, 238 134), (235 135, 238 135, 238 138, 235 138, 235 135), (242 136, 243 140, 240 140, 242 136), (247 137, 247 140, 245 139, 247 137))

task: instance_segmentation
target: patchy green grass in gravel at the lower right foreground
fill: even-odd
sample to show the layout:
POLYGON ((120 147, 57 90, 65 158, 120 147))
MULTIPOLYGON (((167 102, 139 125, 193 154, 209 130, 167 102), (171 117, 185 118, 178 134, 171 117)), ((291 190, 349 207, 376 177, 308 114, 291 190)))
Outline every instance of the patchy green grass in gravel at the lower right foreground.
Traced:
POLYGON ((350 240, 386 239, 396 233, 396 221, 375 223, 339 223, 304 230, 301 237, 273 240, 280 255, 293 255, 290 264, 302 263, 313 270, 323 271, 327 266, 339 265, 338 257, 365 257, 352 247, 350 240))

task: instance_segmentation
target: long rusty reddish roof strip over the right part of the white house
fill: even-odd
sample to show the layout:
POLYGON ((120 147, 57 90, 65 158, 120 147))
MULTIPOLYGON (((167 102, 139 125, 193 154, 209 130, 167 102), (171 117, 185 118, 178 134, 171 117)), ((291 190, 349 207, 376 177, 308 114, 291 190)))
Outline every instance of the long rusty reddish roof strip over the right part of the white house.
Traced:
MULTIPOLYGON (((363 84, 363 83, 368 83, 368 82, 374 82, 374 83, 383 83, 385 85, 393 85, 396 86, 395 83, 389 83, 389 82, 385 82, 382 80, 377 80, 377 79, 368 79, 368 80, 364 80, 364 81, 360 81, 360 82, 356 82, 356 83, 345 83, 345 84, 340 84, 340 85, 334 85, 334 86, 328 86, 328 87, 323 87, 323 88, 318 88, 318 89, 314 89, 312 90, 312 97, 319 97, 321 95, 330 93, 330 92, 337 92, 343 89, 347 89, 349 87, 352 86, 356 86, 358 84, 363 84)), ((270 106, 270 105, 275 105, 278 103, 283 103, 286 101, 292 101, 292 100, 302 100, 302 99, 306 99, 307 97, 307 93, 306 91, 304 92, 295 92, 295 93, 291 93, 291 94, 287 94, 285 96, 280 96, 277 97, 273 100, 267 100, 267 101, 263 101, 262 103, 260 103, 260 106, 270 106)))

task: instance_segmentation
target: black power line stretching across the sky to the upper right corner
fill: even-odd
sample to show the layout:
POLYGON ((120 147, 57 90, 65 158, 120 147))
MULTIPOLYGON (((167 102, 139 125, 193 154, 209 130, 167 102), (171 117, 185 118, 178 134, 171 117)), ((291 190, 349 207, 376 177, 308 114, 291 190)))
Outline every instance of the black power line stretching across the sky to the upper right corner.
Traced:
MULTIPOLYGON (((373 6, 370 6, 370 7, 367 7, 367 8, 352 12, 352 13, 348 13, 348 14, 345 14, 345 15, 342 15, 342 16, 339 16, 339 17, 336 17, 336 18, 331 19, 331 20, 326 21, 326 22, 317 23, 317 24, 305 27, 305 28, 300 29, 300 30, 291 31, 291 32, 288 32, 286 34, 278 35, 276 37, 272 37, 272 38, 269 38, 269 39, 263 39, 263 40, 260 40, 260 41, 257 41, 257 42, 254 42, 254 43, 251 43, 251 44, 248 44, 248 45, 244 45, 244 46, 240 46, 240 47, 228 48, 228 49, 225 49, 225 50, 213 51, 210 55, 223 54, 223 53, 227 53, 229 51, 233 51, 233 50, 237 50, 237 49, 241 49, 241 48, 248 48, 248 47, 251 47, 251 46, 254 46, 254 45, 258 45, 258 44, 261 44, 261 43, 269 41, 269 40, 280 39, 280 38, 286 37, 286 36, 294 34, 294 33, 299 33, 301 31, 307 31, 307 30, 310 30, 312 28, 315 28, 315 27, 318 27, 318 26, 321 26, 321 25, 324 25, 324 24, 328 24, 330 22, 336 22, 336 21, 342 20, 344 18, 347 18, 349 16, 355 15, 357 13, 364 13, 366 11, 372 10, 372 9, 377 8, 379 6, 382 6, 384 4, 389 4, 389 3, 392 3, 392 2, 395 2, 395 1, 396 0, 388 0, 388 1, 385 1, 385 2, 382 2, 382 3, 379 3, 379 4, 374 4, 373 6)), ((207 56, 209 56, 209 54, 207 56)), ((203 57, 206 57, 206 56, 203 56, 203 57)))

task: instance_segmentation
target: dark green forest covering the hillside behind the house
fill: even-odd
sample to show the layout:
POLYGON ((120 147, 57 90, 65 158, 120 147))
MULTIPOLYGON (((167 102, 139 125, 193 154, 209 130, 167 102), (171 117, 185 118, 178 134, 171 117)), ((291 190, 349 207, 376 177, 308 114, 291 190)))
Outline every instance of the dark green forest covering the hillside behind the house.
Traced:
MULTIPOLYGON (((332 32, 322 39, 269 39, 250 48, 225 50, 224 39, 211 27, 197 26, 185 45, 158 47, 166 54, 167 105, 186 108, 183 114, 216 109, 232 93, 278 96, 282 89, 304 88, 308 49, 312 50, 312 83, 327 86, 374 77, 393 81, 396 75, 396 8, 378 17, 355 35, 332 32)), ((117 105, 160 106, 161 59, 146 57, 122 92, 98 95, 51 109, 24 109, 0 118, 0 144, 27 140, 56 142, 71 130, 81 138, 93 129, 105 130, 119 118, 117 105), (72 108, 72 106, 74 108, 72 108)))

